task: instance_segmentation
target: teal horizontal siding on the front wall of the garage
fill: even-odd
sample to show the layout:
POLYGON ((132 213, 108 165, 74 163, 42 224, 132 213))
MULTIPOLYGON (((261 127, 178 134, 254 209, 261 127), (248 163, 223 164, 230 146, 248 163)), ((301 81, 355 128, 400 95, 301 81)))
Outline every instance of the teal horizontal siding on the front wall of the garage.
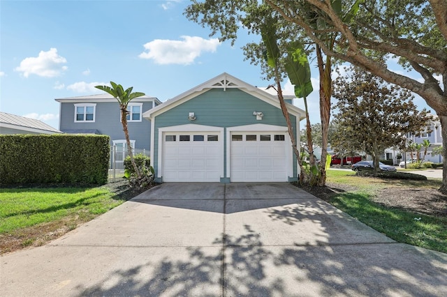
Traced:
MULTIPOLYGON (((296 117, 291 115, 293 130, 296 131, 296 117)), ((266 124, 287 126, 281 109, 263 100, 251 96, 240 89, 211 89, 196 98, 192 98, 173 109, 169 109, 155 118, 154 132, 154 169, 158 168, 159 128, 185 125, 211 125, 217 127, 233 127, 238 125, 266 124), (189 121, 189 112, 196 115, 195 121, 189 121), (263 112, 263 120, 256 120, 253 112, 263 112)), ((225 131, 226 132, 226 131, 225 131)), ((225 137, 225 135, 223 135, 225 137)), ((226 139, 224 138, 224 153, 226 155, 226 139)), ((225 168, 226 172, 226 160, 225 168)), ((296 177, 296 158, 293 156, 293 173, 296 177)))

